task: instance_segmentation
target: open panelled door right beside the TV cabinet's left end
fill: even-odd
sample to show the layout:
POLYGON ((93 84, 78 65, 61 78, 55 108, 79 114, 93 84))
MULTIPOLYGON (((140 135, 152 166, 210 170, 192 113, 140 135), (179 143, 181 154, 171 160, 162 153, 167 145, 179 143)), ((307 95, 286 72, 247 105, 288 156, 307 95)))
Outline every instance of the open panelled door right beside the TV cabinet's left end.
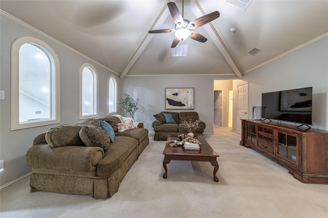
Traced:
POLYGON ((237 132, 241 134, 241 119, 248 118, 248 83, 238 86, 237 132))

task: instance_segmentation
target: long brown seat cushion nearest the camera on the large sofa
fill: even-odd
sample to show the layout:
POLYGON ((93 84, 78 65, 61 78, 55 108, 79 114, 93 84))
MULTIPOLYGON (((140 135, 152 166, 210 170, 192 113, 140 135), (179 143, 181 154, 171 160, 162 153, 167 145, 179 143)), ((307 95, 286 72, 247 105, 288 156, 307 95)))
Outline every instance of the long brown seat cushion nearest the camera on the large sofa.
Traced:
POLYGON ((134 138, 117 136, 115 141, 110 144, 105 152, 105 157, 97 165, 98 176, 108 176, 116 169, 121 167, 122 163, 137 148, 138 141, 134 138))

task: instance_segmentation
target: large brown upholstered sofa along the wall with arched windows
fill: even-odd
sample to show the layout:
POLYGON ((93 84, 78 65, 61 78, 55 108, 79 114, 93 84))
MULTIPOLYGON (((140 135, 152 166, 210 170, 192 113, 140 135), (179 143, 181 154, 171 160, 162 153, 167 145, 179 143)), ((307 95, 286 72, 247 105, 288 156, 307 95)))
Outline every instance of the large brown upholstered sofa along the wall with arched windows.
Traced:
POLYGON ((113 196, 149 142, 142 123, 119 133, 122 124, 126 123, 120 117, 106 116, 37 135, 26 153, 27 165, 32 167, 31 192, 80 194, 95 199, 113 196), (108 129, 110 134, 104 131, 108 129))

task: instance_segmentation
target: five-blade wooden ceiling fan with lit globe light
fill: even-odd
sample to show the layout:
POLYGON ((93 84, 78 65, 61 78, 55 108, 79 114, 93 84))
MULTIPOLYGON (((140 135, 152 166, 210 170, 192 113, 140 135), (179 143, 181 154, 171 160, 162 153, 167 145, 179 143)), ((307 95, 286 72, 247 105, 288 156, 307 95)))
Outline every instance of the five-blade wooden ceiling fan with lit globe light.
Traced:
POLYGON ((163 29, 163 30, 150 30, 148 33, 175 33, 175 38, 173 40, 173 43, 171 47, 176 47, 177 44, 180 41, 183 41, 185 39, 192 38, 196 41, 200 42, 206 42, 207 38, 200 35, 199 33, 193 31, 193 29, 196 29, 198 27, 201 27, 205 25, 208 22, 211 22, 212 20, 218 18, 220 16, 220 13, 218 11, 214 11, 210 14, 204 15, 202 17, 199 17, 197 19, 194 19, 193 21, 189 21, 187 19, 183 19, 183 1, 182 1, 182 15, 179 12, 179 9, 175 5, 174 2, 169 2, 168 7, 171 13, 171 16, 173 18, 173 21, 175 22, 175 29, 163 29))

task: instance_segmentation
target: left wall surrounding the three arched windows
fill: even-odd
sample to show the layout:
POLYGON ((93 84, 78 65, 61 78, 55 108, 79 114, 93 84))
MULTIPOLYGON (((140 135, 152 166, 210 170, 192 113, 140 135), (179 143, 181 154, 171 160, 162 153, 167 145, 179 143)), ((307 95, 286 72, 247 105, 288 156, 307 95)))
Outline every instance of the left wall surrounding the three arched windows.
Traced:
MULTIPOLYGON (((71 50, 42 37, 35 32, 18 25, 16 22, 1 16, 1 82, 0 90, 5 91, 5 100, 0 100, 0 159, 4 160, 4 170, 0 172, 1 186, 22 177, 32 171, 26 165, 25 154, 32 145, 33 138, 50 128, 44 126, 10 131, 10 46, 18 37, 31 36, 43 40, 52 47, 60 62, 60 120, 63 124, 74 124, 79 121, 79 69, 84 63, 92 64, 98 72, 99 116, 107 115, 107 81, 110 72, 71 50)), ((117 80, 118 85, 120 80, 117 80)))

